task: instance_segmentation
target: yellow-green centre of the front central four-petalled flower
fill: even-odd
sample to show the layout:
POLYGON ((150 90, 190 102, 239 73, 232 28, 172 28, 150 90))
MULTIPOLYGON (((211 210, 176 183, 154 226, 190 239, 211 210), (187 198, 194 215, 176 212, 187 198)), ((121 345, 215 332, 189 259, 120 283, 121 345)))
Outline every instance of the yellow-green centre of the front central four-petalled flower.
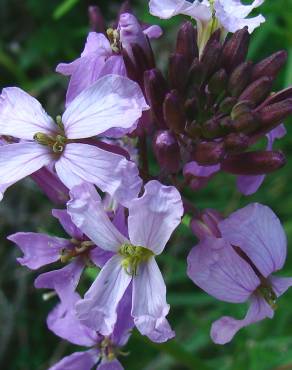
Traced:
POLYGON ((123 244, 119 250, 119 254, 123 257, 123 268, 127 274, 132 276, 137 275, 137 269, 141 262, 147 262, 154 256, 151 250, 132 244, 123 244))

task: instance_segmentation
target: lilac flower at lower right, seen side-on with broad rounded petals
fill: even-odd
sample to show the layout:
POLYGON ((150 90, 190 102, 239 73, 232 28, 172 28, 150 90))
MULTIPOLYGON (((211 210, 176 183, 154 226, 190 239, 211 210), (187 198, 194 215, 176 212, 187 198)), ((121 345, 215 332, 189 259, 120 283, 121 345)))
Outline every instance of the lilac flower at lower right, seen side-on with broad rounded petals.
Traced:
POLYGON ((274 315, 276 298, 292 278, 273 276, 286 259, 287 240, 273 211, 250 204, 218 223, 221 238, 207 236, 188 256, 188 275, 200 288, 226 302, 250 301, 242 320, 224 316, 215 321, 215 343, 232 340, 244 326, 274 315))

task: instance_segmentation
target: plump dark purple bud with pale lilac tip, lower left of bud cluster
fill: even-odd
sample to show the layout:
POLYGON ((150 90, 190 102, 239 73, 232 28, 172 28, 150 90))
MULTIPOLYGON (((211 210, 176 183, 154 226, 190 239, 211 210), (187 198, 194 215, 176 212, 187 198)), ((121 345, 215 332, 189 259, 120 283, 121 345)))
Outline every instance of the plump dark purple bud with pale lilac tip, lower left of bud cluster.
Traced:
POLYGON ((153 150, 160 167, 169 173, 180 168, 180 149, 175 136, 169 131, 158 131, 153 139, 153 150))

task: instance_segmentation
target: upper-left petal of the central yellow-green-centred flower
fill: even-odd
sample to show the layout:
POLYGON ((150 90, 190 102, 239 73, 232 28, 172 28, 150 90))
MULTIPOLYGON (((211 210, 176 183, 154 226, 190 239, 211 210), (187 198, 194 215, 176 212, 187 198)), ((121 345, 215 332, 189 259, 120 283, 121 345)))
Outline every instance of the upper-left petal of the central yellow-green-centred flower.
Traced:
POLYGON ((74 187, 68 202, 68 213, 75 225, 100 248, 116 252, 128 240, 108 218, 102 200, 93 185, 74 187))

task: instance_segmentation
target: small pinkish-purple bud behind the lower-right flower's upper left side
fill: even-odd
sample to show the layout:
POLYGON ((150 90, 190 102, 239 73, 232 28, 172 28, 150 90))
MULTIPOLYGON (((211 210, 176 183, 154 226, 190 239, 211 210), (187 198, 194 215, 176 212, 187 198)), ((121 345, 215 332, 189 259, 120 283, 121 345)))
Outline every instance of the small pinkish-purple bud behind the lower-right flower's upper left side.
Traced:
POLYGON ((192 219, 190 226, 192 232, 199 240, 207 236, 220 238, 221 233, 218 228, 218 223, 222 220, 223 216, 218 211, 214 209, 205 209, 192 219))

